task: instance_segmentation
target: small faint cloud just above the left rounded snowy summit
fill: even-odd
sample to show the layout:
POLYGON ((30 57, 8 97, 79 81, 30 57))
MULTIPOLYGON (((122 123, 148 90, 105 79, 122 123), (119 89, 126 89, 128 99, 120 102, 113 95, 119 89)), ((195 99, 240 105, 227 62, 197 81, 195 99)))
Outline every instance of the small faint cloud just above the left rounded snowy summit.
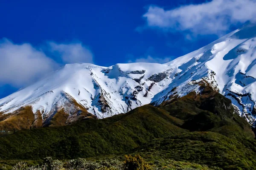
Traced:
POLYGON ((57 44, 49 42, 52 52, 58 52, 65 63, 93 63, 92 52, 81 43, 57 44))

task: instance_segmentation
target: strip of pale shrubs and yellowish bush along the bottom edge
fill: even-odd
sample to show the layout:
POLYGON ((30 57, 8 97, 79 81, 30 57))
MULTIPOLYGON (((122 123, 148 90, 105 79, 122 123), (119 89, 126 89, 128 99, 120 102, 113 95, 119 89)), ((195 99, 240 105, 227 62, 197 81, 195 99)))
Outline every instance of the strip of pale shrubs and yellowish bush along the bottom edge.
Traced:
POLYGON ((109 161, 87 161, 86 159, 73 159, 68 161, 44 159, 42 164, 32 166, 20 161, 12 170, 210 170, 207 166, 190 164, 178 161, 146 162, 140 155, 125 156, 125 161, 111 159, 109 161))

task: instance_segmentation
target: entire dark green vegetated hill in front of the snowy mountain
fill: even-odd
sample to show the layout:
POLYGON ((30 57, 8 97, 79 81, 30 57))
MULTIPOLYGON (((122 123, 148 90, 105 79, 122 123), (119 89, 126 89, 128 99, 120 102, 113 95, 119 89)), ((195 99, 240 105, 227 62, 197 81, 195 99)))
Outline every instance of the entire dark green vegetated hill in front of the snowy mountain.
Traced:
POLYGON ((253 170, 254 138, 250 125, 236 114, 231 101, 202 85, 200 94, 190 93, 159 107, 145 105, 106 119, 3 136, 0 159, 7 161, 0 161, 0 169, 9 169, 9 164, 20 159, 32 160, 27 164, 42 164, 47 156, 74 159, 63 165, 74 168, 84 162, 82 158, 95 164, 139 154, 146 162, 140 156, 126 156, 125 166, 144 170, 253 170))

